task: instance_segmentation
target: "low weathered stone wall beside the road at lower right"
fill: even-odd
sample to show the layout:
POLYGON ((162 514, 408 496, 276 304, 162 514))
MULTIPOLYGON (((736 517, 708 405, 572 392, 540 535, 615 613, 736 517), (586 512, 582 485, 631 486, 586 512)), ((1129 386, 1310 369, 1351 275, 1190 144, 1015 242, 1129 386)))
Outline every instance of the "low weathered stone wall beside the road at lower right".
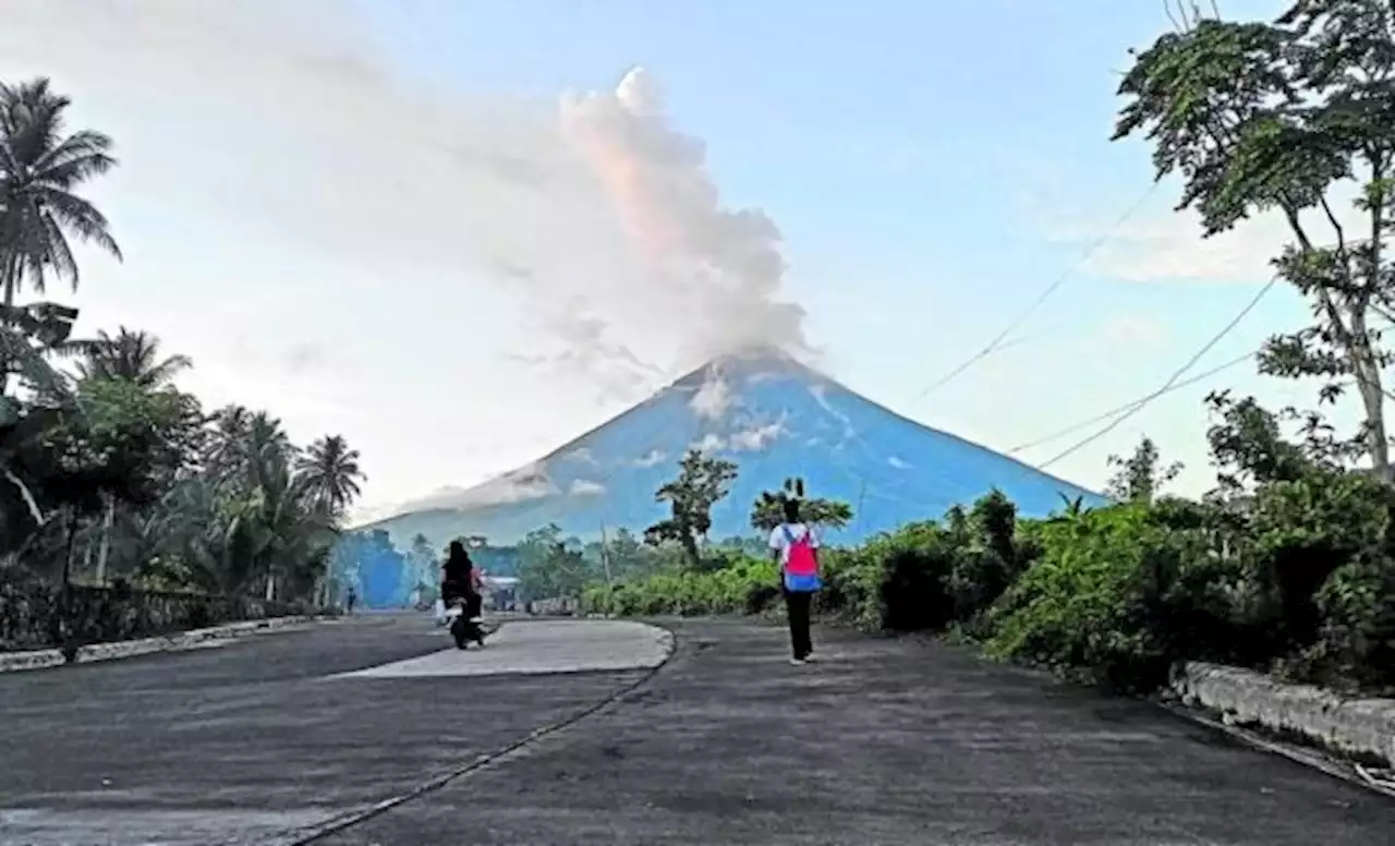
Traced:
POLYGON ((1395 765, 1395 699, 1343 698, 1320 687, 1205 662, 1173 667, 1172 690, 1183 704, 1219 712, 1226 722, 1395 765))

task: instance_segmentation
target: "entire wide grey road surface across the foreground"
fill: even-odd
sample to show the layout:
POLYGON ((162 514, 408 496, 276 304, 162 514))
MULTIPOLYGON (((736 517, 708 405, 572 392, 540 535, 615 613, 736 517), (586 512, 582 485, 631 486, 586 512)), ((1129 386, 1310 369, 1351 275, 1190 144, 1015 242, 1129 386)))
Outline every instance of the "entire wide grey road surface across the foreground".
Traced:
POLYGON ((672 628, 657 671, 552 671, 654 663, 642 627, 432 655, 386 617, 0 676, 0 843, 1395 842, 1395 801, 1147 704, 933 644, 822 632, 791 667, 774 628, 672 628))

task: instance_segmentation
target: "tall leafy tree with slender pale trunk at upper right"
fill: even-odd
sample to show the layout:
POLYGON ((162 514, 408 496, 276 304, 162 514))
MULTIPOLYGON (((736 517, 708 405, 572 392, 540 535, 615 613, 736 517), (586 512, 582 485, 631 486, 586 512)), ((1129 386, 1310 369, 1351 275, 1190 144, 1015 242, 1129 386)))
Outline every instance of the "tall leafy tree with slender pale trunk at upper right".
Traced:
POLYGON ((1395 11, 1375 0, 1299 0, 1274 24, 1189 21, 1137 53, 1119 92, 1131 99, 1115 138, 1143 133, 1158 177, 1180 175, 1179 211, 1202 236, 1276 212, 1293 242, 1281 279, 1311 304, 1313 324, 1275 335, 1260 371, 1318 377, 1318 403, 1355 383, 1363 426, 1335 440, 1391 477, 1381 369, 1371 321, 1395 314, 1385 243, 1395 204, 1395 11), (1338 195, 1355 188, 1348 232, 1338 195))

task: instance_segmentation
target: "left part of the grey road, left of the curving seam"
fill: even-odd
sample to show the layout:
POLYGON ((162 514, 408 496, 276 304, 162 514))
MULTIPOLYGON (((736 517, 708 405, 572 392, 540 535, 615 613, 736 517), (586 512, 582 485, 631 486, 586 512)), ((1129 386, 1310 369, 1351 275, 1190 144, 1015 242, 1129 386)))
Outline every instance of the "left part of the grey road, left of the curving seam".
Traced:
MULTIPOLYGON (((266 842, 409 792, 642 676, 463 677, 509 655, 522 669, 538 655, 558 663, 557 637, 519 644, 505 637, 515 625, 585 624, 511 624, 487 649, 459 653, 420 614, 364 616, 215 649, 0 674, 0 845, 266 842), (435 671, 352 676, 442 649, 455 671, 438 660, 435 671)), ((644 637, 639 646, 651 651, 644 637)))

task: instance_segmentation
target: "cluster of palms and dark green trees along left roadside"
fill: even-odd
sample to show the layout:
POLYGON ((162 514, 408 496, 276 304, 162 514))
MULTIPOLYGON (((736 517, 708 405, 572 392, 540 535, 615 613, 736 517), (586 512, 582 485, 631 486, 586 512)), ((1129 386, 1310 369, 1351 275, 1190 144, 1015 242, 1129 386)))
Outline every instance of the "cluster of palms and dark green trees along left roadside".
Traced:
POLYGON ((77 309, 17 302, 54 278, 75 289, 70 239, 120 257, 78 193, 116 166, 113 144, 67 133, 70 106, 47 80, 0 84, 0 617, 24 604, 35 618, 33 598, 49 591, 49 625, 59 606, 82 606, 74 584, 219 596, 222 610, 162 611, 167 624, 244 613, 251 598, 262 610, 328 600, 331 549, 363 480, 342 437, 303 450, 268 412, 205 412, 177 384, 193 362, 162 355, 153 334, 73 339, 77 309))

